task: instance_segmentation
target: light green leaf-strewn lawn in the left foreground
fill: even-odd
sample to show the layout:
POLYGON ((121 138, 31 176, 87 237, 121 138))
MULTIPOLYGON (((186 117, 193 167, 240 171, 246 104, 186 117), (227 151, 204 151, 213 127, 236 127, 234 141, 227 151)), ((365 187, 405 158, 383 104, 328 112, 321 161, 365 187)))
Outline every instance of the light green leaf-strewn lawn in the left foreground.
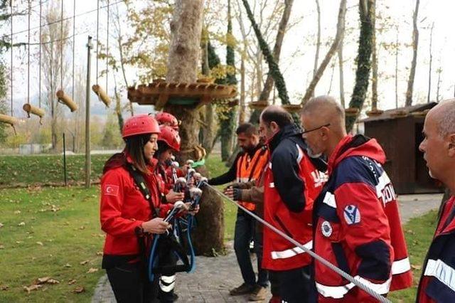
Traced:
POLYGON ((0 289, 8 287, 0 302, 89 302, 104 274, 97 188, 1 189, 0 196, 0 289), (41 277, 60 283, 28 294, 24 287, 41 277), (78 287, 85 291, 73 292, 78 287))

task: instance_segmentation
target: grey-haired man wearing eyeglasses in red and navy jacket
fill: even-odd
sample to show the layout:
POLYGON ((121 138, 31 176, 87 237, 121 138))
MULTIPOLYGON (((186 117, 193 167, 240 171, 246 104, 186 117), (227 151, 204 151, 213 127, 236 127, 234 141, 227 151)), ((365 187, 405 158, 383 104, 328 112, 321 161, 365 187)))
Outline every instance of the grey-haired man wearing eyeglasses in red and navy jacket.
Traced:
MULTIPOLYGON (((314 252, 379 294, 412 286, 395 191, 375 139, 346 134, 343 108, 315 97, 301 112, 313 154, 328 157, 328 181, 314 203, 314 252)), ((314 262, 319 302, 376 302, 314 262)))

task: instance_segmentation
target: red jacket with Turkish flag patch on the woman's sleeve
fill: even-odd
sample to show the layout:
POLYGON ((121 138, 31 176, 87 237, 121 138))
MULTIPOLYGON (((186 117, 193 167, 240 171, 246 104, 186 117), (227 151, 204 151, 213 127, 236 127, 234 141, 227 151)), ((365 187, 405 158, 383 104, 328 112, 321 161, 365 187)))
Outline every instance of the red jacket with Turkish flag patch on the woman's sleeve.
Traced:
MULTIPOLYGON (((106 235, 105 255, 136 255, 139 245, 135 229, 152 218, 149 201, 144 198, 125 167, 131 159, 124 154, 112 156, 101 179, 100 220, 106 235)), ((155 163, 149 165, 154 171, 155 163)), ((159 203, 159 188, 154 174, 144 176, 154 207, 165 216, 170 206, 159 203), (161 206, 161 207, 160 207, 161 206)))

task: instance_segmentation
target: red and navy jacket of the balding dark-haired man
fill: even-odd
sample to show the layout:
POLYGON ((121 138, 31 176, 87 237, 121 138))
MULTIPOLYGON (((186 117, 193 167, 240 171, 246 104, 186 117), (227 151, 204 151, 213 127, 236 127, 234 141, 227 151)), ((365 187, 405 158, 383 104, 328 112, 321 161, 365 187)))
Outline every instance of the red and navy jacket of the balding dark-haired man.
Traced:
MULTIPOLYGON (((269 143, 270 160, 264 179, 264 220, 306 248, 312 247, 311 211, 323 185, 321 174, 305 151, 298 129, 284 127, 269 143)), ((262 267, 292 270, 311 263, 294 244, 264 228, 262 267)))

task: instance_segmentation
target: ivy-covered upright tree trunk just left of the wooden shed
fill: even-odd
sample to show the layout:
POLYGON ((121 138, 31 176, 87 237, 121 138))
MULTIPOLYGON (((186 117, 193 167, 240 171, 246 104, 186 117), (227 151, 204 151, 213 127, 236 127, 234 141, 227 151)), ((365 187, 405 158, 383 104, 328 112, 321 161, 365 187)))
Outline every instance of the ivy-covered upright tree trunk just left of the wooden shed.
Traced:
POLYGON ((368 91, 368 78, 371 68, 371 48, 373 45, 373 6, 375 0, 359 1, 360 37, 358 43, 357 70, 355 72, 355 85, 350 98, 349 107, 359 110, 357 115, 346 117, 346 130, 353 129, 355 120, 365 102, 368 91))

